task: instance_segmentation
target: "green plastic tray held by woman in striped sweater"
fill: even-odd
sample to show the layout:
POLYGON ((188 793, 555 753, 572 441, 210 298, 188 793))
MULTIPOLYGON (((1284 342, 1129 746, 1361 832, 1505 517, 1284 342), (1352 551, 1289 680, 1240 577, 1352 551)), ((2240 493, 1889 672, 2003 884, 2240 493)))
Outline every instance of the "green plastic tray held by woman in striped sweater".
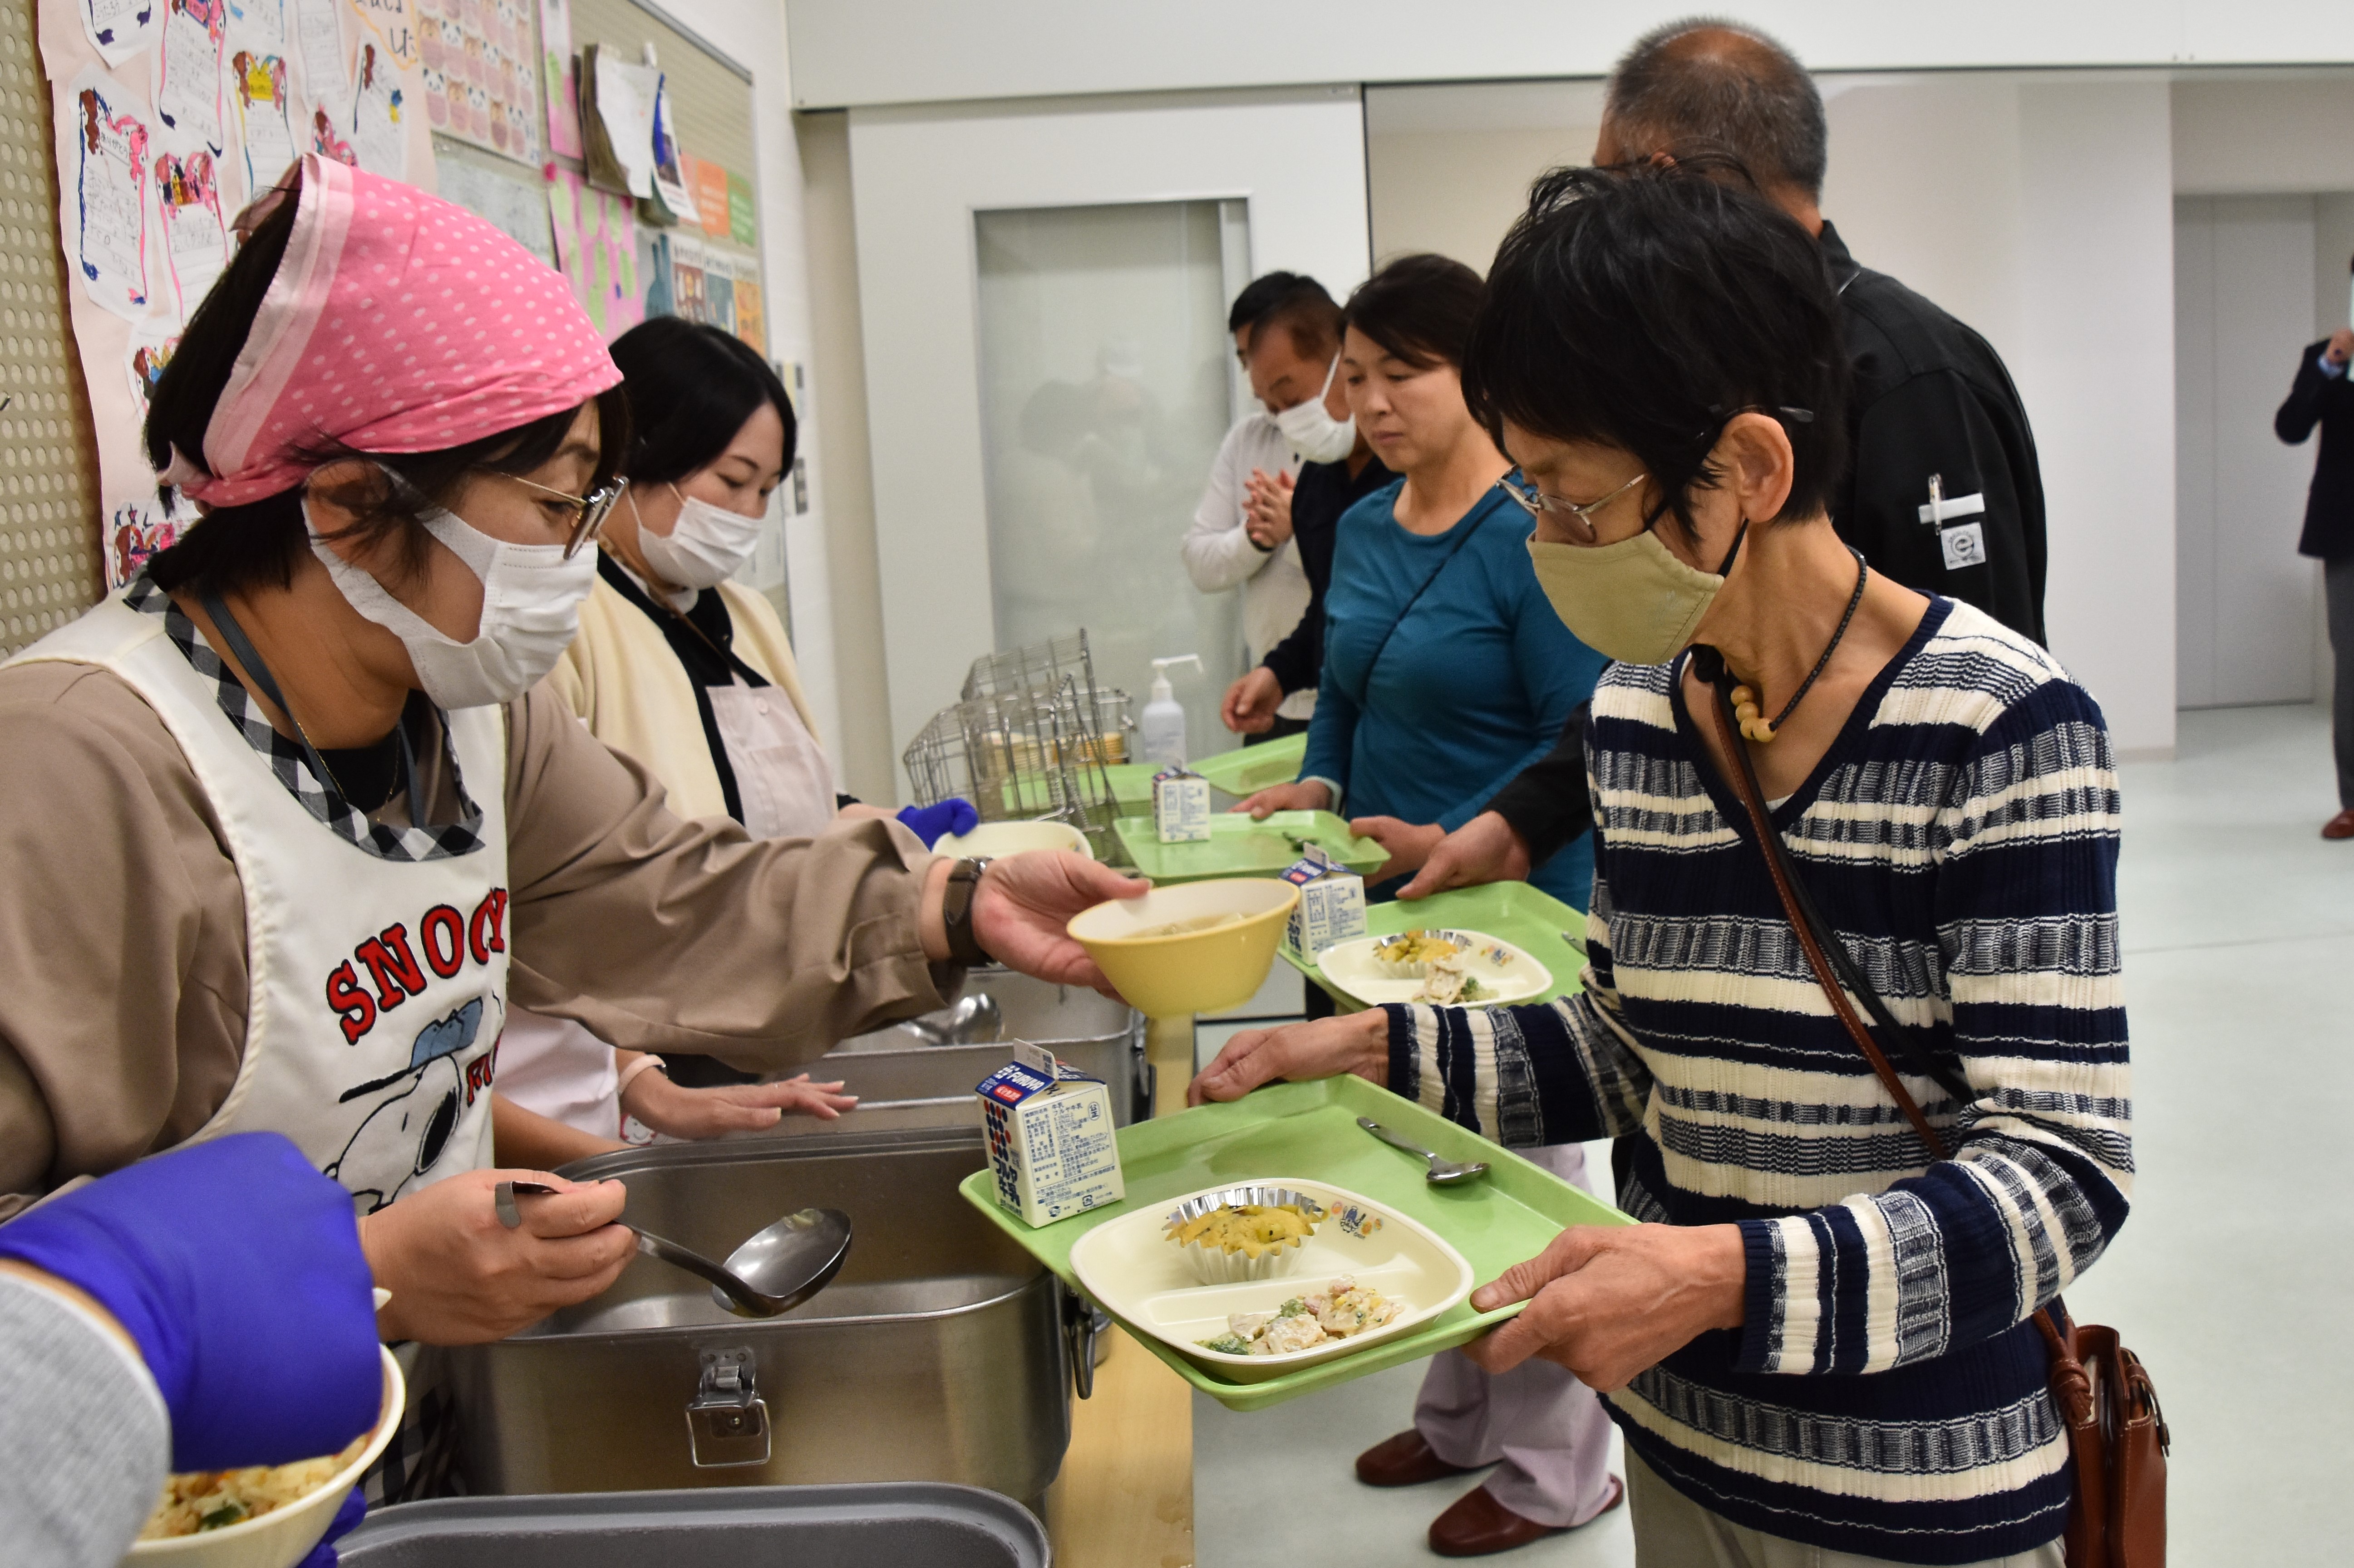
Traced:
MULTIPOLYGON (((1022 1215, 998 1208, 996 1178, 989 1171, 967 1175, 958 1192, 1073 1291, 1078 1274, 1071 1272, 1071 1248, 1097 1225, 1201 1187, 1257 1175, 1302 1175, 1389 1204, 1445 1237, 1471 1262, 1478 1284, 1535 1258, 1570 1225, 1634 1225, 1617 1208, 1551 1171, 1358 1077, 1269 1084, 1231 1105, 1198 1105, 1175 1117, 1125 1126, 1121 1175, 1128 1182, 1128 1201, 1038 1229, 1024 1225, 1022 1215), (1448 1159, 1485 1159, 1488 1178, 1462 1187, 1431 1187, 1422 1180, 1419 1159, 1377 1143, 1356 1126, 1358 1117, 1372 1117, 1448 1159)), ((1128 1333, 1229 1410, 1264 1410, 1299 1394, 1455 1349, 1518 1312, 1518 1302, 1497 1312, 1474 1312, 1471 1302, 1459 1302, 1415 1333, 1266 1382, 1226 1382, 1153 1335, 1139 1328, 1128 1333)))

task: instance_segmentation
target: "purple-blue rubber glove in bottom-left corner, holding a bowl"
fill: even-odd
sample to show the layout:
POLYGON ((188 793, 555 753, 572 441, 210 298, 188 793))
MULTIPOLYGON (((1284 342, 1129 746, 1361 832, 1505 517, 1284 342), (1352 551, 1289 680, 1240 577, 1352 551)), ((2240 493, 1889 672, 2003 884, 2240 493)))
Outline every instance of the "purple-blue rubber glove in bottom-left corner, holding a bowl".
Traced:
POLYGON ((87 1291, 172 1413, 172 1469, 287 1465, 377 1425, 377 1305, 351 1194, 278 1133, 141 1159, 0 1225, 87 1291))

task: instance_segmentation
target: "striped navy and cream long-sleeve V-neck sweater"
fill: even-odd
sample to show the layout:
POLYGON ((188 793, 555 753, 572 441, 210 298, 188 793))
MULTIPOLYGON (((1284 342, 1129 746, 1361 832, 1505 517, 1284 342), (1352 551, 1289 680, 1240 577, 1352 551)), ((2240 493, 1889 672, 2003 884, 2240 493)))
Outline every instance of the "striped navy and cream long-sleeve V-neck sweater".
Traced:
POLYGON ((1740 1222, 1747 1321, 1610 1396, 1735 1523, 1907 1563, 2034 1549, 2067 1441, 2027 1314, 2126 1220, 2119 797, 2093 698, 1935 599, 1775 813, 1824 922, 1968 1081, 1907 1074, 1928 1150, 1831 1016, 1681 665, 1615 665, 1587 771, 1584 994, 1391 1009, 1391 1086, 1507 1145, 1631 1135, 1620 1204, 1740 1222))

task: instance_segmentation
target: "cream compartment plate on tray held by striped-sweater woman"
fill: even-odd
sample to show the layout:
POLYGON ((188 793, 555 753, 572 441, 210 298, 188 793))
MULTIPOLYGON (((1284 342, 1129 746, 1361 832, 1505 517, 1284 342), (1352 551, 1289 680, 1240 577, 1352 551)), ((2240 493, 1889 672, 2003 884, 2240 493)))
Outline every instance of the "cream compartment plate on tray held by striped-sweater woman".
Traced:
POLYGON ((1238 1182, 1179 1192, 1158 1204, 1139 1206, 1137 1213, 1106 1220, 1071 1248, 1071 1272, 1078 1274, 1088 1295, 1116 1319, 1231 1382, 1264 1382, 1316 1361, 1332 1361, 1379 1345, 1455 1307, 1471 1295, 1474 1284, 1464 1255, 1419 1220, 1346 1187, 1295 1175, 1250 1175, 1238 1182), (1276 1279, 1250 1279, 1231 1286, 1198 1284, 1161 1227, 1170 1211, 1186 1199, 1245 1185, 1304 1192, 1330 1215, 1314 1237, 1299 1244, 1297 1262, 1276 1279), (1379 1225, 1365 1225, 1368 1218, 1379 1220, 1379 1225), (1292 1295, 1306 1295, 1330 1284, 1335 1274, 1356 1276, 1356 1284, 1403 1302, 1405 1312, 1368 1333, 1295 1349, 1288 1356, 1229 1356, 1201 1347, 1201 1340, 1226 1333, 1229 1314, 1274 1312, 1292 1295))

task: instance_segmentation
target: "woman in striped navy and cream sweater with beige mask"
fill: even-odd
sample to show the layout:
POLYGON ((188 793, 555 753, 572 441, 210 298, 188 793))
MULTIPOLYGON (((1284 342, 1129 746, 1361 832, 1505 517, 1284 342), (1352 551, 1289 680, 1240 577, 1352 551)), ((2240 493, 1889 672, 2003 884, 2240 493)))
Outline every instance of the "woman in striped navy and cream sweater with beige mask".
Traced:
MULTIPOLYGON (((1608 1392, 1643 1568, 2060 1568, 2069 1472, 2024 1319, 2126 1218, 2116 771, 2093 698, 1984 614, 1867 574, 1824 496, 1822 261, 1737 169, 1556 172, 1464 364, 1532 555, 1615 656, 1587 769, 1584 992, 1241 1034, 1196 1081, 1358 1072, 1507 1145, 1624 1138, 1631 1229, 1563 1232, 1474 1347, 1608 1392), (1798 877, 1897 1020, 1933 1161, 1775 896, 1695 649, 1798 877)), ((1926 484, 1926 477, 1923 477, 1926 484)))

